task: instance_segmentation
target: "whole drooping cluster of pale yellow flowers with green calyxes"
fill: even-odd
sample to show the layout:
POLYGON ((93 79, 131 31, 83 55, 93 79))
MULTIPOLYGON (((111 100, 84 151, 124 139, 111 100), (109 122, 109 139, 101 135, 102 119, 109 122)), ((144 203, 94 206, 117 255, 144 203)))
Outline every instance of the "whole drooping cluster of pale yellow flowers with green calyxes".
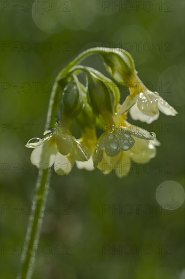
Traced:
POLYGON ((127 122, 128 112, 132 119, 147 123, 159 117, 159 110, 171 116, 177 112, 159 93, 142 84, 134 61, 125 50, 94 48, 86 53, 99 54, 113 80, 126 84, 130 95, 120 104, 120 91, 115 82, 94 68, 77 65, 78 58, 57 78, 56 122, 44 132, 42 139, 31 138, 26 147, 34 148, 32 164, 38 168, 54 164, 58 175, 68 175, 76 162, 80 169, 98 168, 104 174, 115 171, 118 177, 124 177, 129 173, 131 161, 149 162, 160 145, 155 133, 127 122), (85 84, 79 81, 81 73, 86 76, 85 84), (79 140, 70 132, 73 120, 81 129, 79 140), (98 137, 100 129, 102 133, 98 137))

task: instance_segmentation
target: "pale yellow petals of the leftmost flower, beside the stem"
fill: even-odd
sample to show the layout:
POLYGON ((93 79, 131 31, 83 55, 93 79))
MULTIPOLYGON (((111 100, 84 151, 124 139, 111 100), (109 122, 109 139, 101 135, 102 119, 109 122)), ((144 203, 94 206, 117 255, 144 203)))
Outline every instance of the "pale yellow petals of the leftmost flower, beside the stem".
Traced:
POLYGON ((54 164, 58 175, 68 175, 76 160, 87 161, 87 155, 80 142, 70 131, 51 128, 44 133, 45 137, 32 138, 26 147, 34 148, 31 163, 40 169, 49 168, 54 164))

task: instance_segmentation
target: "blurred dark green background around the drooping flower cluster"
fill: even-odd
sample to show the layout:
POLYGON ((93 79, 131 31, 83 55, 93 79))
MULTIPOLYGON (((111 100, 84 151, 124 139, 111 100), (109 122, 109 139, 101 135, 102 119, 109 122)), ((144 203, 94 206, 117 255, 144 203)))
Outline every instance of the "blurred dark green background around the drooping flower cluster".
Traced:
MULTIPOLYGON (((15 278, 24 253, 37 178, 25 144, 42 137, 57 73, 96 46, 128 50, 140 79, 178 115, 140 124, 161 146, 123 179, 52 170, 33 278, 184 278, 183 191, 172 183, 175 210, 156 200, 161 183, 184 182, 184 1, 1 1, 1 31, 1 278, 15 278)), ((84 63, 106 74, 98 57, 84 63)))

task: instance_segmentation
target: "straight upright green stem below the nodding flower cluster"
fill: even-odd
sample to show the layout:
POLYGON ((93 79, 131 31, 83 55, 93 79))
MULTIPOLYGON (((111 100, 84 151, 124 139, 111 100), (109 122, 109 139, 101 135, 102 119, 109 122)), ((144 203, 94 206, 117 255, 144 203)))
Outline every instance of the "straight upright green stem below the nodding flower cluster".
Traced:
MULTIPOLYGON (((55 123, 55 114, 57 111, 58 103, 60 99, 60 90, 59 83, 55 82, 47 114, 47 123, 48 127, 54 126, 55 123)), ((41 155, 42 156, 42 155, 41 155)), ((49 162, 48 162, 49 164, 49 162)), ((32 202, 31 216, 29 219, 29 224, 27 227, 27 233, 25 237, 25 248, 24 254, 22 254, 21 262, 22 267, 21 271, 17 276, 17 279, 29 279, 31 278, 33 265, 35 260, 35 249, 36 245, 39 243, 41 235, 41 226, 43 222, 43 206, 47 200, 47 194, 49 192, 49 182, 51 169, 44 169, 39 171, 38 182, 36 183, 35 195, 32 202)))

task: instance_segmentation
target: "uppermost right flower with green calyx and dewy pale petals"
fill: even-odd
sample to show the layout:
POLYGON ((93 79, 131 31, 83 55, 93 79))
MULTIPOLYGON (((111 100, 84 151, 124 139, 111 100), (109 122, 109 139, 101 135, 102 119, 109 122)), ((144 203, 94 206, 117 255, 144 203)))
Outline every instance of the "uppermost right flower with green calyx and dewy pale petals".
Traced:
POLYGON ((132 119, 147 123, 158 119, 159 111, 168 116, 177 114, 176 110, 159 93, 152 92, 144 86, 137 76, 133 58, 127 51, 115 49, 110 54, 107 49, 102 56, 109 74, 119 84, 129 87, 130 95, 120 106, 118 114, 121 115, 130 110, 132 119))

